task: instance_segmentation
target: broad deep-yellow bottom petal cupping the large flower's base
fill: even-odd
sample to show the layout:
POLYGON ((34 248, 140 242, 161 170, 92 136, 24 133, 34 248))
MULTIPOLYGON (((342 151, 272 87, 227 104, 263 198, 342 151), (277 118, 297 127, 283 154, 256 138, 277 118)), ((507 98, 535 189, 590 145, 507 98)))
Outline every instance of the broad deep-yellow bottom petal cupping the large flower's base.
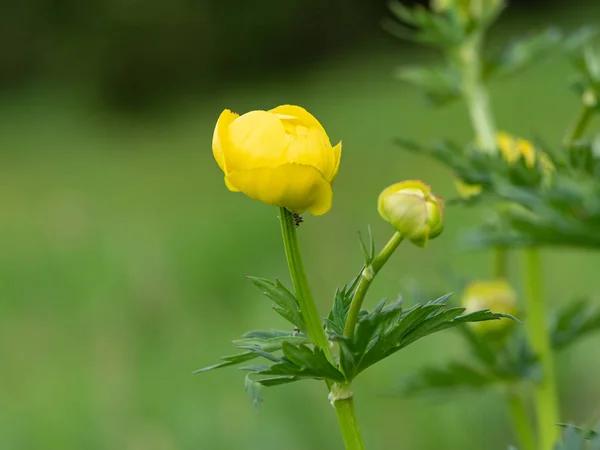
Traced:
POLYGON ((309 211, 319 216, 331 209, 331 185, 314 167, 283 164, 234 171, 227 180, 250 198, 296 213, 309 211))

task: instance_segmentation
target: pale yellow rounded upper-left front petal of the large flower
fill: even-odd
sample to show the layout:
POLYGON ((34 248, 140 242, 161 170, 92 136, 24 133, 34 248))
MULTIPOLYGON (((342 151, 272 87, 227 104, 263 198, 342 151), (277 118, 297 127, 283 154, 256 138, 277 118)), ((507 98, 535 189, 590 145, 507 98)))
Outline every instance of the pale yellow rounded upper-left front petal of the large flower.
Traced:
POLYGON ((288 162, 289 139, 283 124, 266 111, 251 111, 235 119, 229 126, 229 142, 223 153, 231 171, 277 167, 288 162))

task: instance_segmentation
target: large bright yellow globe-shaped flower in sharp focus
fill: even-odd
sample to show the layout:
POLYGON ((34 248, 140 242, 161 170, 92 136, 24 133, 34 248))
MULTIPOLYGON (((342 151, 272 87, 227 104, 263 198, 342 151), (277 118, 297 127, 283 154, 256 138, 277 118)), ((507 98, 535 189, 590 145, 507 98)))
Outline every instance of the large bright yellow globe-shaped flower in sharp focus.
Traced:
POLYGON ((342 143, 308 111, 283 105, 242 116, 225 110, 213 134, 213 155, 230 191, 295 213, 325 214, 342 143))

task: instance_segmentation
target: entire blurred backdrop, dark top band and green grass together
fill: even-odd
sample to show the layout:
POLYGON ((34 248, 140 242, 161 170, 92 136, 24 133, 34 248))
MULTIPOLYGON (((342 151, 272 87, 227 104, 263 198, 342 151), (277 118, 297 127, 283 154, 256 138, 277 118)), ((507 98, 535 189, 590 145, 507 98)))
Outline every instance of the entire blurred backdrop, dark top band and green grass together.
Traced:
MULTIPOLYGON (((0 15, 0 449, 341 449, 324 387, 265 391, 243 375, 192 370, 230 354, 250 329, 286 327, 244 279, 288 275, 277 210, 229 193, 212 159, 224 108, 295 103, 342 139, 332 211, 305 217, 303 253, 324 314, 361 265, 358 230, 391 233, 375 199, 419 178, 453 195, 451 175, 394 147, 470 137, 463 105, 428 109, 394 80, 429 52, 379 29, 385 2, 23 0, 0 15)), ((491 45, 600 16, 592 2, 514 2, 491 45)), ((557 142, 578 109, 563 57, 493 86, 501 128, 557 142)), ((489 276, 461 235, 480 211, 450 208, 423 251, 405 244, 368 298, 449 272, 489 276)), ((596 295, 598 255, 546 251, 555 304, 596 295)), ((518 276, 519 255, 511 270, 518 276)), ((410 298, 407 299, 410 301, 410 298)), ((598 339, 558 359, 564 420, 597 418, 598 339)), ((368 448, 505 449, 500 393, 427 400, 390 395, 401 374, 464 355, 451 331, 359 377, 368 448)))

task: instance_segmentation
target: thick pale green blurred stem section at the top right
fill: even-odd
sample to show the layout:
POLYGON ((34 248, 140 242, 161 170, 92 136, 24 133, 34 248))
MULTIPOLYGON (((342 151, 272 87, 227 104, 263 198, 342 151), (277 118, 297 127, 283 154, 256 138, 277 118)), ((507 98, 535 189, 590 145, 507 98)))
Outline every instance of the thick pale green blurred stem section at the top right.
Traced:
POLYGON ((462 71, 462 91, 467 102, 471 124, 482 150, 496 152, 496 127, 490 101, 483 83, 481 64, 482 36, 478 33, 467 39, 458 49, 462 71))

